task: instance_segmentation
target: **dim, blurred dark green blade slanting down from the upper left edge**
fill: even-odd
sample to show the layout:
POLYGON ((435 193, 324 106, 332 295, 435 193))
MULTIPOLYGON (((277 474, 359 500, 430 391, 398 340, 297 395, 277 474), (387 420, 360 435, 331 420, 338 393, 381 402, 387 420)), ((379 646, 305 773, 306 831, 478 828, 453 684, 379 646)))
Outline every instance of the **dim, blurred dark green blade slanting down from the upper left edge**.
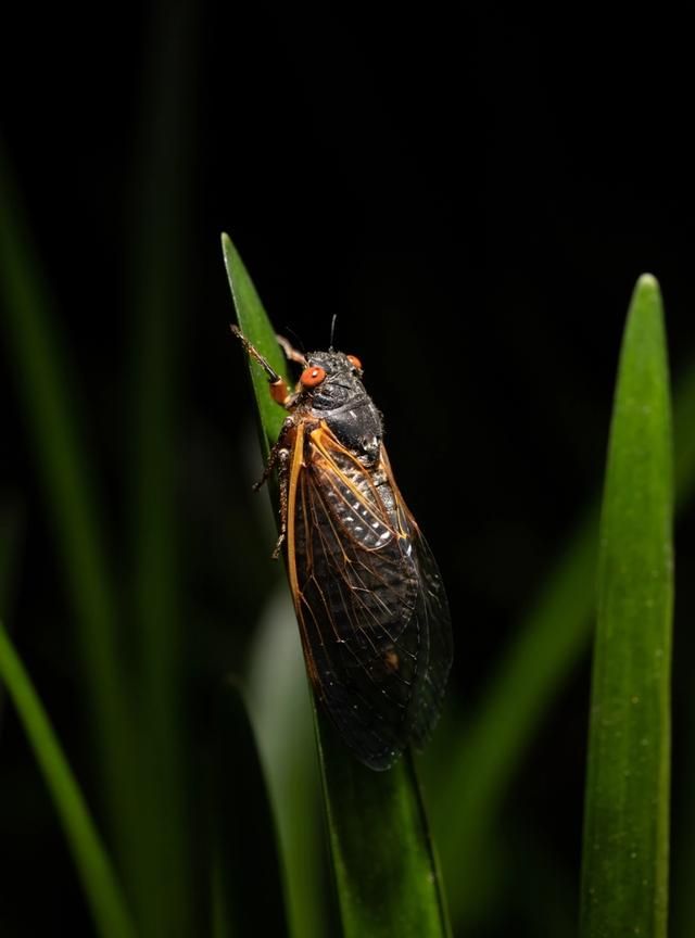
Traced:
POLYGON ((10 169, 0 149, 0 296, 35 459, 58 554, 75 609, 77 646, 89 695, 86 710, 99 757, 110 821, 122 853, 137 826, 129 686, 118 643, 118 604, 111 581, 91 462, 79 427, 74 368, 61 342, 40 264, 34 255, 10 169))

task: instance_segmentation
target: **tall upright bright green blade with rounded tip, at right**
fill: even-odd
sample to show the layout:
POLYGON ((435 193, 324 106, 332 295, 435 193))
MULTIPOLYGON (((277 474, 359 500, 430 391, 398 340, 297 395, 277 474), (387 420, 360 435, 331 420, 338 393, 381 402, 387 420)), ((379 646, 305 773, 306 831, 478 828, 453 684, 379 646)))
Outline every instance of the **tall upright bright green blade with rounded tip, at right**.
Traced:
POLYGON ((673 468, 656 280, 640 278, 620 355, 601 520, 581 934, 665 938, 673 468))

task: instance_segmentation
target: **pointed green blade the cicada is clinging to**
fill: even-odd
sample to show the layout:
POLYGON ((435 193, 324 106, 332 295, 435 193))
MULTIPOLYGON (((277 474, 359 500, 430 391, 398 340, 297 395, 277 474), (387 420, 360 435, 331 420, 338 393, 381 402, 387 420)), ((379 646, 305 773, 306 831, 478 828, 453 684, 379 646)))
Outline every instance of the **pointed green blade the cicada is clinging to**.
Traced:
MULTIPOLYGON (((223 248, 245 337, 283 375, 275 333, 226 236, 223 248)), ((250 363, 264 438, 273 444, 282 409, 268 405, 267 378, 250 363)), ((409 756, 388 772, 359 764, 316 713, 329 838, 343 933, 447 935, 440 876, 409 756)))

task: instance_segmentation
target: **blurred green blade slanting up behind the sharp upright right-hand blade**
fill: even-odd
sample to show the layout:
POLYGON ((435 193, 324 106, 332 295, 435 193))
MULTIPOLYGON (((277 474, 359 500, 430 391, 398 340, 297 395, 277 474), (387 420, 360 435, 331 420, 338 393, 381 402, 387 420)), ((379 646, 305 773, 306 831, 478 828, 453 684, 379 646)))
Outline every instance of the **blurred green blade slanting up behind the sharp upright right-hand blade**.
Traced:
MULTIPOLYGON (((695 363, 679 384, 673 411, 675 496, 679 510, 683 510, 695 492, 695 363)), ((596 579, 597 541, 595 506, 568 537, 558 563, 497 664, 468 728, 462 732, 457 727, 456 738, 444 739, 443 725, 434 740, 435 746, 446 749, 446 771, 430 782, 435 796, 430 812, 432 829, 444 882, 450 886, 450 914, 462 927, 476 921, 486 901, 491 866, 481 864, 479 858, 501 817, 523 755, 586 650, 595 608, 586 584, 596 579), (447 807, 453 803, 457 806, 455 812, 447 807)))

